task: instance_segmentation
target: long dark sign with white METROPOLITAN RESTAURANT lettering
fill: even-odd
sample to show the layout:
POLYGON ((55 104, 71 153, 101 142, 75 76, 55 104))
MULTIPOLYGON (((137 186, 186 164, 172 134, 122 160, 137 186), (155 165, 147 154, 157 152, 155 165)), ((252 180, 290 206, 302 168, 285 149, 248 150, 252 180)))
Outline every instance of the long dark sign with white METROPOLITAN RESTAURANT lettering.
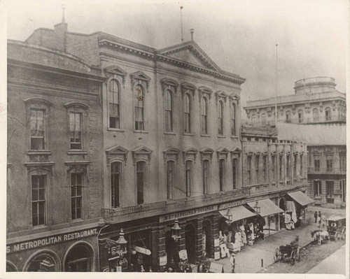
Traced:
POLYGON ((6 254, 13 252, 21 252, 25 250, 41 248, 46 245, 57 243, 64 243, 66 241, 73 241, 87 236, 97 235, 97 229, 83 229, 82 231, 74 231, 66 234, 57 234, 55 236, 48 236, 45 238, 38 238, 31 241, 23 241, 20 243, 6 245, 6 254))

